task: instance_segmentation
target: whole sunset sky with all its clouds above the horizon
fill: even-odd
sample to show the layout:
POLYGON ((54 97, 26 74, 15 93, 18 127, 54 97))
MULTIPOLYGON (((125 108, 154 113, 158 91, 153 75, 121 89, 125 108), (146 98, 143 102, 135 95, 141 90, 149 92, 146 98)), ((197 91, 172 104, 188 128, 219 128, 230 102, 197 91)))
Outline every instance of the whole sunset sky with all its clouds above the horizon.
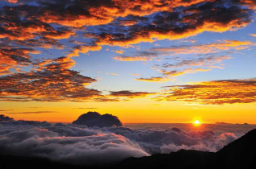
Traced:
POLYGON ((256 124, 254 0, 0 0, 0 113, 256 124))

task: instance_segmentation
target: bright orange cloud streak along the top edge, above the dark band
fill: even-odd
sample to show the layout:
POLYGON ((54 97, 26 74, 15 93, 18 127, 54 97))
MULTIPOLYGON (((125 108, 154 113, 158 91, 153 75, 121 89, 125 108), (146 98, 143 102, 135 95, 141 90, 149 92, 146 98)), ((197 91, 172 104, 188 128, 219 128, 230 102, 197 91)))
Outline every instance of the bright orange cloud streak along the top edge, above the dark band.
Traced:
MULTIPOLYGON (((40 15, 40 20, 44 23, 58 23, 68 27, 103 25, 111 23, 115 18, 124 18, 130 14, 144 16, 158 11, 170 11, 172 8, 178 6, 191 6, 199 2, 204 1, 138 0, 131 2, 129 0, 113 0, 104 3, 100 3, 99 1, 73 1, 73 3, 69 4, 69 8, 65 9, 65 12, 61 8, 44 9, 40 15)), ((132 23, 134 21, 128 21, 124 25, 132 25, 132 23)))

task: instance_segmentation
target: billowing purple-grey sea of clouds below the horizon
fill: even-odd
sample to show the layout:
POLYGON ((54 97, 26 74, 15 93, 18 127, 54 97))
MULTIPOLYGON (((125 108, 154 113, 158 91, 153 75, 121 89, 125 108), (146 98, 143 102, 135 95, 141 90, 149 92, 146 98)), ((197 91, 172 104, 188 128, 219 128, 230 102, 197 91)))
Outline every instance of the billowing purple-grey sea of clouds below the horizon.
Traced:
POLYGON ((128 157, 180 149, 217 151, 237 136, 212 131, 186 132, 87 127, 62 123, 0 122, 0 150, 6 155, 39 156, 77 164, 115 163, 128 157))

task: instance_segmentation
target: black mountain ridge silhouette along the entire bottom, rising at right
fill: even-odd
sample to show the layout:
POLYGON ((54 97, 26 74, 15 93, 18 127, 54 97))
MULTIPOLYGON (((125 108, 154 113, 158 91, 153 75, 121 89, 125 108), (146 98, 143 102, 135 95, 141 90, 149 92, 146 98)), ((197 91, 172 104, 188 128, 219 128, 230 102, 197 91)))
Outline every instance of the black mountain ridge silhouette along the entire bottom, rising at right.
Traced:
POLYGON ((178 150, 170 154, 156 154, 149 157, 128 158, 120 163, 101 167, 76 166, 52 162, 36 157, 0 155, 1 169, 31 168, 170 168, 170 169, 255 169, 256 168, 256 129, 229 143, 216 153, 199 150, 178 150))

